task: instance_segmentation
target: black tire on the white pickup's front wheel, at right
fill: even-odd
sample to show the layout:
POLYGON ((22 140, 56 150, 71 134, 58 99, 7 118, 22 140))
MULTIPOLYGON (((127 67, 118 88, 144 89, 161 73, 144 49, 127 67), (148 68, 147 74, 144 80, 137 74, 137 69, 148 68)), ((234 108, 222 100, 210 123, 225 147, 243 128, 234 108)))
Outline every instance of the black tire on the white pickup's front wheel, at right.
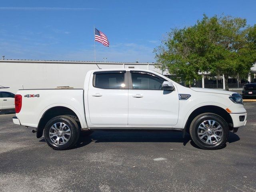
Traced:
POLYGON ((194 141, 194 143, 199 148, 202 148, 202 149, 214 150, 214 149, 223 148, 228 140, 228 135, 229 135, 228 123, 221 116, 218 116, 213 113, 200 114, 196 116, 196 118, 194 118, 194 120, 190 124, 190 136, 194 141), (208 120, 210 120, 210 123, 208 123, 208 120), (214 124, 214 121, 216 122, 215 124, 214 124), (199 128, 199 126, 201 126, 203 122, 204 124, 206 124, 205 132, 204 132, 204 128, 199 128), (215 130, 214 128, 213 129, 209 128, 211 127, 211 124, 212 124, 212 127, 215 128, 215 130), (210 126, 207 127, 207 125, 210 125, 210 126), (220 125, 221 128, 216 129, 217 125, 220 125), (222 130, 221 131, 222 133, 220 132, 220 129, 222 130), (202 139, 200 139, 199 134, 201 137, 203 137, 203 135, 205 136, 202 139), (216 137, 217 134, 219 134, 221 137, 219 136, 216 137), (210 140, 208 140, 208 138, 210 138, 210 140), (212 142, 212 144, 210 142, 212 142))

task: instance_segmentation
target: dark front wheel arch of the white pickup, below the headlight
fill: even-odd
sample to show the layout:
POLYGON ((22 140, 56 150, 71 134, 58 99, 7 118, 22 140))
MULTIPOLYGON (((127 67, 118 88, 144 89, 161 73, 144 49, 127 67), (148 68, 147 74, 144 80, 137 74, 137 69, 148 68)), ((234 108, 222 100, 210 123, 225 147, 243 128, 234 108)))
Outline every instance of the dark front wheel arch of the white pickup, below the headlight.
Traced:
POLYGON ((221 116, 229 125, 230 130, 233 128, 233 120, 230 114, 222 107, 220 106, 215 106, 215 105, 205 105, 205 106, 200 106, 196 109, 194 109, 188 116, 186 120, 186 124, 184 126, 184 130, 189 132, 190 124, 192 120, 203 113, 214 113, 216 115, 221 116))

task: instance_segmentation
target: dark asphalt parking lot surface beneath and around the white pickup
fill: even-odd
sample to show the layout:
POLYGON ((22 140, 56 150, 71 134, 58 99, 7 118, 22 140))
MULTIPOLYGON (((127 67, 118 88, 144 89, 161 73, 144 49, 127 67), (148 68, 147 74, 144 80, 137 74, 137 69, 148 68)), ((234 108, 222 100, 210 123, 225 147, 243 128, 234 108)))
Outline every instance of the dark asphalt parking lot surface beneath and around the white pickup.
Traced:
POLYGON ((174 131, 95 131, 64 151, 0 114, 0 191, 256 191, 256 102, 220 150, 174 131))

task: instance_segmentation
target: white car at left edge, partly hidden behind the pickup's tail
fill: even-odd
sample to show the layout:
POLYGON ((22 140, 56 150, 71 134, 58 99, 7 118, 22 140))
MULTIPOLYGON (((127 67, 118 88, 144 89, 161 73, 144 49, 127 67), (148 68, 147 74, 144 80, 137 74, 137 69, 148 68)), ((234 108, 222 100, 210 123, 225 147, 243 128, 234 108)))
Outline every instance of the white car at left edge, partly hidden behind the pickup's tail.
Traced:
POLYGON ((0 91, 0 111, 15 109, 14 96, 11 92, 0 91))

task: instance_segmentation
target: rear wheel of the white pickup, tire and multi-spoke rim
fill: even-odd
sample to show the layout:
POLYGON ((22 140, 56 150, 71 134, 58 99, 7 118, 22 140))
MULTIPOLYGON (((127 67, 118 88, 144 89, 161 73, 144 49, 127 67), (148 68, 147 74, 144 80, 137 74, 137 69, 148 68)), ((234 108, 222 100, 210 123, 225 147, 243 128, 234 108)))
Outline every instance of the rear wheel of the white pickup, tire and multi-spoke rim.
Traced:
POLYGON ((54 150, 72 148, 78 141, 79 134, 78 124, 69 116, 52 118, 44 129, 46 143, 54 150))

